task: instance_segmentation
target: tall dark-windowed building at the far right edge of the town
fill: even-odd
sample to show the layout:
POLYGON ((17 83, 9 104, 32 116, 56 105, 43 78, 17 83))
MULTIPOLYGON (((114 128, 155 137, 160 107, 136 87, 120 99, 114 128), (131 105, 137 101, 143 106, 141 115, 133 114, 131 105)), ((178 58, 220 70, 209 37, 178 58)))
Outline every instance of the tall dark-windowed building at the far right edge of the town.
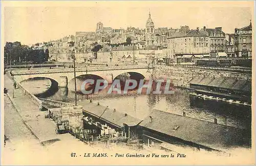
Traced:
POLYGON ((234 53, 236 57, 251 57, 252 47, 252 28, 251 22, 247 27, 241 29, 234 29, 234 53))

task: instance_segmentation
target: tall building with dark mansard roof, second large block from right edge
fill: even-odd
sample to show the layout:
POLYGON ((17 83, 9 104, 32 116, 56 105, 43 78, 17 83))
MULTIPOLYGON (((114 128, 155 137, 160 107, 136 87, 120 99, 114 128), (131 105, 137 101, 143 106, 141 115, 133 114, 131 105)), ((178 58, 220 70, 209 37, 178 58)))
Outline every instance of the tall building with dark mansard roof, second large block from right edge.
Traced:
POLYGON ((210 57, 216 58, 217 53, 226 52, 226 36, 222 31, 222 27, 217 27, 215 29, 207 29, 204 27, 201 31, 206 31, 210 38, 210 57))

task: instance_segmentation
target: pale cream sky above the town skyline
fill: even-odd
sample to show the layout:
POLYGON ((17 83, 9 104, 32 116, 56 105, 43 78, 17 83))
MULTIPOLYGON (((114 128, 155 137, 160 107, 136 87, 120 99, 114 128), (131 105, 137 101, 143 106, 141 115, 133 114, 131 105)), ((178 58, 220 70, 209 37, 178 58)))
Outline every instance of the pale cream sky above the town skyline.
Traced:
POLYGON ((148 12, 155 28, 180 26, 215 28, 234 33, 254 18, 253 3, 244 2, 15 2, 2 4, 4 43, 20 41, 34 44, 75 35, 77 31, 95 32, 96 23, 115 29, 144 29, 148 12))

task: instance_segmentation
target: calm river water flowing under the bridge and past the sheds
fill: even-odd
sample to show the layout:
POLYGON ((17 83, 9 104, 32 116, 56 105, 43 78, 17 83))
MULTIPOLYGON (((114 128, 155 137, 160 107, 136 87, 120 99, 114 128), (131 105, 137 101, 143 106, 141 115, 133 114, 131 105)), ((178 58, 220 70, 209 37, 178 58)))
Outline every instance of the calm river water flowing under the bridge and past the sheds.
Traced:
MULTIPOLYGON (((56 101, 74 103, 74 91, 71 88, 51 87, 49 79, 25 81, 22 84, 37 97, 56 101), (45 93, 42 93, 47 91, 45 93)), ((202 121, 214 122, 217 118, 218 124, 246 128, 251 124, 251 107, 234 105, 222 101, 204 101, 189 96, 188 90, 176 89, 174 94, 105 94, 104 92, 86 96, 77 94, 78 104, 93 99, 101 105, 115 108, 117 111, 130 114, 134 117, 143 118, 148 116, 152 109, 159 109, 175 114, 197 118, 202 121)))

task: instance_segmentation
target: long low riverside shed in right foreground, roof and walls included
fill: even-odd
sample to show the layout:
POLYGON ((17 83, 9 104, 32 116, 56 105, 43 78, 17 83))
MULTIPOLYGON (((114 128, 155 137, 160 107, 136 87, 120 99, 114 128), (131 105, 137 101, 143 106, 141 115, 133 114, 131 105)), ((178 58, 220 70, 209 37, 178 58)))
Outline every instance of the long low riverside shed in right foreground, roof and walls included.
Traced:
MULTIPOLYGON (((205 122, 160 110, 152 112, 139 124, 142 139, 148 148, 161 149, 163 144, 187 145, 206 150, 225 150, 249 145, 246 130, 205 122)), ((214 120, 213 120, 214 121, 214 120)), ((172 149, 171 149, 172 150, 172 149)))

